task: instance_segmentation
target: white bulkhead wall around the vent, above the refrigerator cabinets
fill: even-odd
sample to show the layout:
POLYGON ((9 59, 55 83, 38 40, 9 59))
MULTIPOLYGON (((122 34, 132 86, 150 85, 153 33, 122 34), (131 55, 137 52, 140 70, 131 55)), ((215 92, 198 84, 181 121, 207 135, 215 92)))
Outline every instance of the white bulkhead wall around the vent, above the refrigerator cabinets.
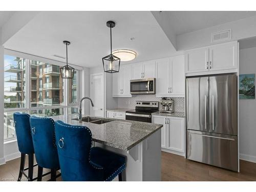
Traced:
MULTIPOLYGON (((256 16, 248 17, 234 22, 177 35, 178 50, 188 50, 212 45, 211 33, 220 30, 231 29, 231 40, 239 40, 256 36, 256 16)), ((221 41, 224 42, 224 41, 221 41)), ((216 42, 214 44, 219 44, 216 42)))

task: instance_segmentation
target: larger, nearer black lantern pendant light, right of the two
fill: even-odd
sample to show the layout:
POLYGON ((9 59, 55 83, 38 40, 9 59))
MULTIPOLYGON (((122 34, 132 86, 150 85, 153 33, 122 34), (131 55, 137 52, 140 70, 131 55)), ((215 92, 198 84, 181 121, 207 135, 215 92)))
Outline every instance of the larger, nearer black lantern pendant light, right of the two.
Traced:
POLYGON ((111 29, 115 27, 115 22, 109 20, 106 22, 106 26, 110 28, 110 55, 102 58, 104 72, 106 73, 117 73, 120 68, 120 58, 112 55, 112 31, 111 29))

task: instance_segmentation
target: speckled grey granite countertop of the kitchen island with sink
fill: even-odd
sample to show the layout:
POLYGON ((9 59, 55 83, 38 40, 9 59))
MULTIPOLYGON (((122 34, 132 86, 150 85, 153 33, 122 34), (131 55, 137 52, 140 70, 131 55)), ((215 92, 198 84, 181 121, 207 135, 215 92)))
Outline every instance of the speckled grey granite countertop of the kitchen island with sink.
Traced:
MULTIPOLYGON (((112 120, 103 124, 95 124, 72 120, 77 115, 58 115, 51 117, 53 120, 61 120, 72 125, 87 126, 92 132, 93 141, 109 145, 120 150, 129 151, 132 147, 161 129, 163 125, 131 120, 114 120, 111 118, 100 118, 112 120)), ((85 117, 85 116, 83 116, 85 117)), ((98 117, 95 117, 98 118, 98 117)))

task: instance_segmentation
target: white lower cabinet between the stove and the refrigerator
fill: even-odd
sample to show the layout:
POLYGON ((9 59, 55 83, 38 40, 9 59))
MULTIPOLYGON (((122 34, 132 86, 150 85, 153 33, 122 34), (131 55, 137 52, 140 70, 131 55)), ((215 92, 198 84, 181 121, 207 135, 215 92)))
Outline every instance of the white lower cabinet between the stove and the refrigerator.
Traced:
POLYGON ((153 123, 162 124, 161 146, 167 150, 185 152, 184 118, 153 116, 153 123))

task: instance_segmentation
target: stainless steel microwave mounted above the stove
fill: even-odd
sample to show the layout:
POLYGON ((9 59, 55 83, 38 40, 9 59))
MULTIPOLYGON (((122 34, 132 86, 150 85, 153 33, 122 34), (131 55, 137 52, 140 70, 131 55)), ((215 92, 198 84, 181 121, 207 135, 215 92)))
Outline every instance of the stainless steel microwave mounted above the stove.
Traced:
POLYGON ((156 78, 133 79, 131 94, 156 94, 156 78))

